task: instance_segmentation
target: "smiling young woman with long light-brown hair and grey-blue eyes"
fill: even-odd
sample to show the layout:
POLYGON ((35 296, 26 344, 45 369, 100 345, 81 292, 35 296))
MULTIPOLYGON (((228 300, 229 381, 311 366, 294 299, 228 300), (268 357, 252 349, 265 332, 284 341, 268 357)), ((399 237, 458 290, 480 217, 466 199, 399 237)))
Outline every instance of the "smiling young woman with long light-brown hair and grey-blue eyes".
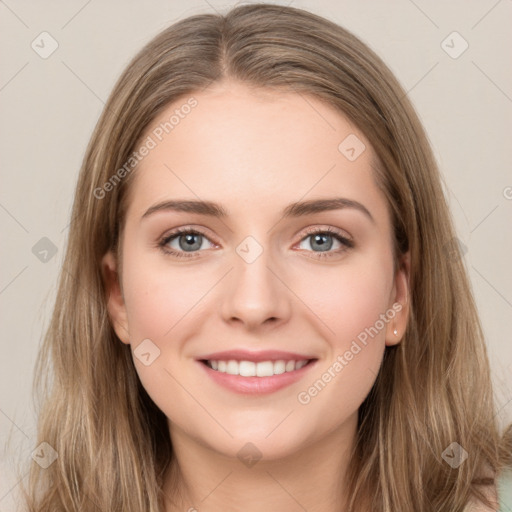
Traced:
POLYGON ((495 510, 512 430, 454 240, 355 36, 265 4, 164 30, 81 169, 29 510, 495 510))

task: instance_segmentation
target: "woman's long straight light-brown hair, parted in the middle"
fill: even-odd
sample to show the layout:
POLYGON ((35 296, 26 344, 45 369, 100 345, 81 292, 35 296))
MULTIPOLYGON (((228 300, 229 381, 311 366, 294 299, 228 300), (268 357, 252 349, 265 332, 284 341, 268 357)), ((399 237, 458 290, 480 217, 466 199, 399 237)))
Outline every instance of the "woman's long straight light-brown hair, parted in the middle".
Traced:
POLYGON ((502 437, 496 423, 481 325, 418 117, 382 60, 349 31, 301 9, 252 4, 161 32, 130 62, 97 123, 34 381, 38 443, 58 458, 46 469, 32 463, 28 509, 163 509, 173 457, 166 418, 112 328, 100 261, 110 249, 121 256, 136 172, 126 162, 151 121, 226 78, 311 95, 347 116, 378 156, 396 261, 410 251, 410 318, 359 410, 347 510, 453 512, 484 500, 482 485, 512 464, 512 429, 502 437), (469 453, 458 468, 443 458, 453 442, 469 453))

